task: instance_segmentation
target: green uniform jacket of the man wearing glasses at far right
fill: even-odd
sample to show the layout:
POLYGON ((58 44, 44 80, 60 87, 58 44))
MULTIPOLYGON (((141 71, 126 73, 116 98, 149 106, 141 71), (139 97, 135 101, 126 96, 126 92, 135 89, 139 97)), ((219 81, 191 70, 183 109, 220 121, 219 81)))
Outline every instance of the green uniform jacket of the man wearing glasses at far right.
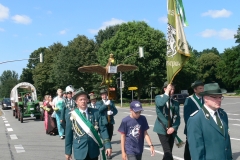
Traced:
POLYGON ((192 160, 232 159, 228 116, 223 109, 219 109, 218 113, 223 123, 224 134, 221 133, 212 116, 204 109, 200 109, 188 119, 187 139, 192 160))

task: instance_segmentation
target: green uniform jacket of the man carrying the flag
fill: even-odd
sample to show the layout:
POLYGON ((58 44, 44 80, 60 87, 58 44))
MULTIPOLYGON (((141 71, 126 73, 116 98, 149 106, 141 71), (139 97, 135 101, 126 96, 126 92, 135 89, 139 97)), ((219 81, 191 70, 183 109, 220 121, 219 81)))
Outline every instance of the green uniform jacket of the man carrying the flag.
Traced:
MULTIPOLYGON (((169 96, 166 94, 157 95, 155 97, 157 117, 162 121, 166 128, 168 126, 168 108, 166 105, 168 99, 169 96)), ((173 133, 173 136, 175 136, 180 125, 179 103, 173 99, 171 99, 171 103, 173 107, 171 125, 175 130, 175 132, 173 133)), ((163 128, 162 124, 158 121, 158 118, 156 118, 153 131, 158 134, 166 135, 167 134, 166 130, 165 128, 163 128)))

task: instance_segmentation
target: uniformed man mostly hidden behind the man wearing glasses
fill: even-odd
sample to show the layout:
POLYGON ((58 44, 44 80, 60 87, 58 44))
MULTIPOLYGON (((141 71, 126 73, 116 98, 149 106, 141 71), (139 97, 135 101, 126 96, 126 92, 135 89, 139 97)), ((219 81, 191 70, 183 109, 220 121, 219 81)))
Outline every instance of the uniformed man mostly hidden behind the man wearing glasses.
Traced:
MULTIPOLYGON (((196 80, 194 83, 192 83, 191 87, 194 90, 194 94, 187 97, 185 100, 184 107, 183 107, 183 111, 184 111, 183 115, 184 115, 184 122, 185 122, 184 134, 186 136, 187 136, 188 118, 193 112, 202 108, 203 98, 202 96, 199 95, 199 93, 203 92, 203 86, 204 86, 204 83, 200 80, 196 80)), ((191 160, 187 139, 186 139, 186 144, 184 149, 184 160, 191 160)))

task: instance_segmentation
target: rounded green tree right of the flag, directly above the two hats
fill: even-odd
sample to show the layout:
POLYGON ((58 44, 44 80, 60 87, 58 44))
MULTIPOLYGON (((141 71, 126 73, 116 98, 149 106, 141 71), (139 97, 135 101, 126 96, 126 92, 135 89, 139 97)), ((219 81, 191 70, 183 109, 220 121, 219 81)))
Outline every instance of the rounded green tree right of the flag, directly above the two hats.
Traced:
POLYGON ((221 84, 221 80, 216 76, 217 64, 220 60, 220 56, 215 53, 202 54, 196 61, 200 70, 198 79, 201 79, 206 83, 218 82, 221 84))

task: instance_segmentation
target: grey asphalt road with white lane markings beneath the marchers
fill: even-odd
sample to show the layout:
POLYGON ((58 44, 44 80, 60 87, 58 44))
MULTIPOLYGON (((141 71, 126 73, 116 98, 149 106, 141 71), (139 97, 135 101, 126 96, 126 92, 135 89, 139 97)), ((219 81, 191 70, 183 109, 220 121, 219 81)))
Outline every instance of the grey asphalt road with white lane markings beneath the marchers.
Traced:
MULTIPOLYGON (((229 127, 231 135, 231 144, 234 159, 240 160, 240 98, 225 98, 222 102, 222 108, 228 113, 229 127)), ((1 108, 1 107, 0 107, 1 108)), ((129 114, 128 108, 118 108, 119 113, 115 116, 116 124, 112 140, 113 160, 121 160, 120 134, 117 132, 123 117, 129 114)), ((181 117, 183 116, 183 107, 181 107, 181 117)), ((150 129, 148 133, 155 146, 156 155, 150 156, 149 147, 146 145, 143 152, 143 160, 162 159, 163 151, 157 134, 152 131, 156 119, 155 108, 145 107, 142 113, 146 116, 150 129)), ((0 159, 1 160, 63 160, 64 158, 64 140, 58 136, 49 136, 45 134, 43 121, 34 118, 25 118, 24 123, 20 123, 12 116, 12 110, 4 110, 0 117, 0 159)), ((183 134, 184 121, 181 119, 181 125, 178 135, 185 140, 183 134)), ((184 147, 174 146, 174 159, 183 160, 184 147)))

